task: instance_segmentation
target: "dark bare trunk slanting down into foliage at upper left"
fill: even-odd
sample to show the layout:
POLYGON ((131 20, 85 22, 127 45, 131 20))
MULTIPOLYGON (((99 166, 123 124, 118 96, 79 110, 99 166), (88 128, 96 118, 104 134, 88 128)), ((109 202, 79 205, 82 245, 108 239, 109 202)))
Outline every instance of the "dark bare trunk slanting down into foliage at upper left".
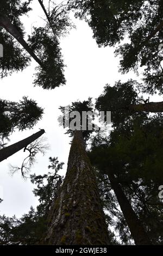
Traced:
POLYGON ((20 32, 18 32, 17 28, 12 25, 11 21, 8 19, 7 16, 0 16, 0 26, 5 28, 6 31, 8 31, 14 38, 23 46, 23 48, 30 54, 31 57, 34 58, 34 60, 43 68, 41 60, 37 58, 36 54, 33 52, 33 50, 29 47, 27 42, 23 39, 23 36, 20 32))

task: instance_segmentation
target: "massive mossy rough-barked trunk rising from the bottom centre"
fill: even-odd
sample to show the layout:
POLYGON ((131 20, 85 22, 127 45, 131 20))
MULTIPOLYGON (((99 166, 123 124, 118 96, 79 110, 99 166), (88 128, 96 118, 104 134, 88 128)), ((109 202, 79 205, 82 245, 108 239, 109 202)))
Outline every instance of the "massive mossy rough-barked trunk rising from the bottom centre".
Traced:
POLYGON ((108 245, 95 173, 81 131, 74 132, 67 173, 48 216, 41 245, 108 245))

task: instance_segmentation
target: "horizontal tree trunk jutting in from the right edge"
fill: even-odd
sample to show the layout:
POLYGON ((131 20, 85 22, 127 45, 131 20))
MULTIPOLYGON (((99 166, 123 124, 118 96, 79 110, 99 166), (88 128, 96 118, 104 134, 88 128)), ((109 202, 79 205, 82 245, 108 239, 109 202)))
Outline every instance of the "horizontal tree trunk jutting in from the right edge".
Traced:
POLYGON ((149 102, 145 104, 133 104, 129 106, 129 109, 135 112, 163 112, 163 101, 161 102, 149 102))

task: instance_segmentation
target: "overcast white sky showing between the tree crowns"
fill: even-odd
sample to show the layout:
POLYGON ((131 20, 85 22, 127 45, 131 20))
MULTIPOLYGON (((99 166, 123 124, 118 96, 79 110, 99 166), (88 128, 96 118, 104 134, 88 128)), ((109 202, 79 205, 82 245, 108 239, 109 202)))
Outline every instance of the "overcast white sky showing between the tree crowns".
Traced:
MULTIPOLYGON (((42 22, 42 9, 37 1, 33 1, 33 11, 29 17, 23 17, 22 21, 27 33, 31 32, 31 26, 42 22)), ((58 1, 60 2, 60 1, 58 1)), ((87 100, 89 96, 96 98, 103 92, 106 83, 112 86, 115 81, 127 81, 129 78, 137 79, 133 72, 121 75, 118 72, 118 58, 114 57, 114 48, 98 48, 95 39, 92 38, 91 28, 84 21, 73 19, 77 29, 73 29, 66 38, 61 39, 62 55, 67 65, 65 68, 66 86, 54 90, 43 90, 40 87, 33 87, 33 74, 36 63, 32 64, 23 72, 12 74, 0 81, 1 99, 18 101, 26 95, 36 100, 39 106, 45 108, 45 114, 33 130, 14 132, 10 136, 9 144, 20 141, 40 129, 45 129, 48 143, 51 149, 43 157, 37 155, 37 162, 34 164, 31 173, 45 174, 48 171, 48 157, 59 157, 59 161, 65 162, 65 174, 70 150, 70 138, 65 135, 65 130, 58 124, 60 115, 59 106, 66 106, 72 101, 87 100)), ((153 101, 162 100, 159 96, 151 97, 153 101)), ((32 193, 33 185, 29 180, 24 181, 21 173, 14 176, 9 174, 9 163, 20 166, 23 152, 9 157, 0 164, 0 214, 21 217, 29 211, 31 205, 37 205, 37 198, 32 193)))

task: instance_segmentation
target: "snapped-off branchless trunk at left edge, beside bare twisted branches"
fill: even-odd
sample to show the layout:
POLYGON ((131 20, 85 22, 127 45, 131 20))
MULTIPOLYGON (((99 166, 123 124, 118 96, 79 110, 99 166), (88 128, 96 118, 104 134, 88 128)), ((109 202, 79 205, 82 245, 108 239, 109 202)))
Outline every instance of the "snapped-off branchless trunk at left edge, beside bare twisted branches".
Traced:
POLYGON ((20 151, 23 148, 26 148, 30 143, 34 142, 37 138, 39 138, 45 130, 40 130, 39 132, 34 133, 22 141, 16 142, 6 148, 0 150, 0 162, 7 159, 9 156, 14 155, 16 152, 20 151))

